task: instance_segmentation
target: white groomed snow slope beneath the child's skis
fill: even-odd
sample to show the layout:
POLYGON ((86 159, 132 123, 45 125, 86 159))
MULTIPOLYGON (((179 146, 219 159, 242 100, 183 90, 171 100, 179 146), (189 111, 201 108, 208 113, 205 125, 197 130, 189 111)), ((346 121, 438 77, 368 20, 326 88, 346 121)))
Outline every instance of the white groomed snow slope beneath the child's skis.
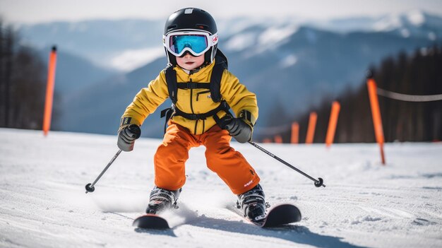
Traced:
POLYGON ((270 205, 294 203, 303 218, 260 229, 224 208, 235 197, 191 150, 172 230, 137 230, 153 187, 159 140, 141 138, 117 152, 115 136, 0 129, 0 247, 442 247, 442 144, 291 146, 263 144, 327 187, 249 144, 234 148, 261 175, 270 205))

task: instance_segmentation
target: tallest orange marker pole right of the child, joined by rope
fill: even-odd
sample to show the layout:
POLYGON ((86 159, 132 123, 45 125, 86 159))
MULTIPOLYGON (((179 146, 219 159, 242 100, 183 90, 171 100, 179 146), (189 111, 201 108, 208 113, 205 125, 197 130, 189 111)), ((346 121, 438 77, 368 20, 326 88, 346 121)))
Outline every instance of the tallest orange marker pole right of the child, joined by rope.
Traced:
POLYGON ((376 82, 373 78, 369 78, 367 81, 367 87, 369 89, 369 98, 370 98, 370 106, 371 106, 371 115, 373 116, 373 125, 374 125, 374 134, 376 135, 376 142, 381 149, 381 160, 382 164, 386 164, 386 158, 383 153, 383 129, 382 129, 382 119, 381 119, 381 110, 379 108, 378 95, 376 94, 376 82))

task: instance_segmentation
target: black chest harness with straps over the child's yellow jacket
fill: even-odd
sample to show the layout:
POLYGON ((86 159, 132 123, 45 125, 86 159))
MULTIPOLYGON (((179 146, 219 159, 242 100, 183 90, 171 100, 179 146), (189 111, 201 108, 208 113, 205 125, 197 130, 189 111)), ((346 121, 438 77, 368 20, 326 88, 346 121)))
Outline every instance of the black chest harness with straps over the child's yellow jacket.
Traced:
MULTIPOLYGON (((225 57, 224 54, 222 54, 220 49, 217 49, 217 54, 215 56, 215 65, 213 66, 212 76, 210 76, 210 83, 195 83, 192 81, 187 83, 178 83, 177 71, 174 71, 173 66, 168 66, 165 69, 167 90, 169 91, 169 98, 170 100, 172 100, 172 107, 169 107, 161 111, 161 118, 166 117, 165 132, 167 127, 167 122, 169 122, 169 119, 174 116, 181 116, 186 119, 191 119, 195 121, 199 119, 205 120, 208 117, 213 117, 213 119, 215 119, 215 122, 218 125, 224 126, 222 124, 222 120, 217 116, 217 112, 225 111, 227 114, 232 115, 229 112, 230 109, 229 105, 225 100, 222 100, 222 95, 220 92, 222 73, 224 72, 225 69, 227 69, 227 58, 225 57), (183 112, 176 105, 178 100, 177 97, 178 89, 184 89, 184 90, 207 89, 208 91, 203 91, 202 93, 210 92, 210 98, 213 100, 213 102, 220 102, 220 105, 218 105, 218 107, 215 107, 215 109, 210 110, 209 112, 205 112, 203 114, 183 112)), ((196 95, 197 100, 198 100, 198 94, 196 95)), ((194 130, 195 133, 196 133, 197 123, 198 122, 195 123, 195 130, 194 130)))

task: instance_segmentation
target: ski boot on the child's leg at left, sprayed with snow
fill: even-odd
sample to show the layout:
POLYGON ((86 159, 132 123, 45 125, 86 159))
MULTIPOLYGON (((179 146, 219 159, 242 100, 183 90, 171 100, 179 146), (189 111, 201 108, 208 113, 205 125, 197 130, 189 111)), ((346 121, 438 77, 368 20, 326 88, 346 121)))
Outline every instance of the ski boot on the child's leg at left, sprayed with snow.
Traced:
POLYGON ((177 200, 180 193, 181 189, 170 191, 155 186, 150 192, 149 205, 145 212, 157 214, 169 208, 178 208, 177 200))

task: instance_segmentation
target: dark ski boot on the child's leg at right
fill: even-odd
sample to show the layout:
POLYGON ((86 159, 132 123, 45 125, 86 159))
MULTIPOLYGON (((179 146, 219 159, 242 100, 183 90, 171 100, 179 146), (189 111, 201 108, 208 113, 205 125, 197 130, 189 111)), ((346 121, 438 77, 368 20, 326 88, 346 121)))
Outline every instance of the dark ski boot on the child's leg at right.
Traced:
POLYGON ((237 208, 242 209, 244 217, 260 222, 265 219, 265 209, 269 207, 264 197, 263 188, 257 184, 253 189, 238 195, 237 208))

